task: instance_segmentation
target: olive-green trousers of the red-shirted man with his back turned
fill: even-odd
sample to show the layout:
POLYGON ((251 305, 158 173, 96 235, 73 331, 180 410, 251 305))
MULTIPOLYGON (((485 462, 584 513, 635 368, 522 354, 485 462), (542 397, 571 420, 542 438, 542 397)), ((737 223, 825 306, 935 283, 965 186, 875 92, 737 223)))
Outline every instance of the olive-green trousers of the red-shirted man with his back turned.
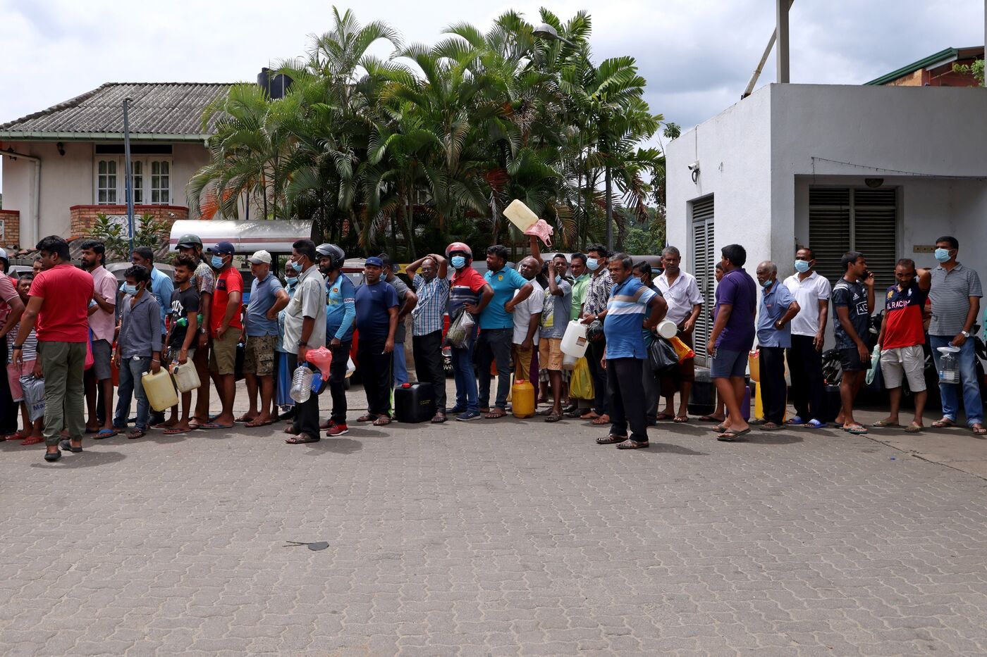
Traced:
POLYGON ((62 428, 68 429, 70 439, 82 440, 86 343, 38 340, 38 358, 44 374, 44 444, 57 445, 62 428))

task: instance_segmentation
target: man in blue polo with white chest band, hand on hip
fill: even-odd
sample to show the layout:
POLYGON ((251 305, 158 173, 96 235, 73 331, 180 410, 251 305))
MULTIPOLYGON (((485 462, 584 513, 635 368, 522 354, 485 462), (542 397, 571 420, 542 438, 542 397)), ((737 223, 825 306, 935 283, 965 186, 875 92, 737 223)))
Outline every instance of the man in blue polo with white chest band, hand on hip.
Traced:
POLYGON ((610 434, 597 438, 599 445, 617 443, 617 449, 636 450, 647 447, 645 396, 641 389, 644 376, 645 334, 642 328, 656 327, 668 310, 661 296, 634 276, 630 255, 617 254, 607 262, 614 286, 607 302, 603 332, 607 339, 600 367, 607 372, 607 407, 610 411, 610 434), (628 424, 631 435, 628 436, 628 424))

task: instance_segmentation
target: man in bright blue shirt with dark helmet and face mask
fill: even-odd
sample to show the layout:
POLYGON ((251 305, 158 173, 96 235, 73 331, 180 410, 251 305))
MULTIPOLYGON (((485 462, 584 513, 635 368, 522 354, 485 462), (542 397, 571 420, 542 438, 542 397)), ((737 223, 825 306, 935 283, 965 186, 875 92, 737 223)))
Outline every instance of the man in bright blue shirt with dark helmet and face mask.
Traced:
POLYGON ((353 343, 353 321, 356 319, 356 288, 342 273, 346 258, 335 244, 320 244, 315 249, 319 256, 319 273, 326 277, 329 291, 326 302, 326 341, 333 352, 329 368, 329 392, 333 398, 333 412, 329 422, 320 429, 327 429, 331 438, 349 433, 346 426, 346 364, 349 347, 353 343))

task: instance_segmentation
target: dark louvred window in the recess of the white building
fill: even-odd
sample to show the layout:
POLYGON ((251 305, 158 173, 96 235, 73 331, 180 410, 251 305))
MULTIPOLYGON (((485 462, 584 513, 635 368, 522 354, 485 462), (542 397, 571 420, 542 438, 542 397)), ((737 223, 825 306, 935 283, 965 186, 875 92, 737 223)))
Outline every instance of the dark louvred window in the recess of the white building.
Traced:
POLYGON ((898 258, 897 190, 810 187, 808 246, 816 271, 832 284, 845 273, 840 258, 859 251, 873 271, 875 287, 892 285, 898 258))

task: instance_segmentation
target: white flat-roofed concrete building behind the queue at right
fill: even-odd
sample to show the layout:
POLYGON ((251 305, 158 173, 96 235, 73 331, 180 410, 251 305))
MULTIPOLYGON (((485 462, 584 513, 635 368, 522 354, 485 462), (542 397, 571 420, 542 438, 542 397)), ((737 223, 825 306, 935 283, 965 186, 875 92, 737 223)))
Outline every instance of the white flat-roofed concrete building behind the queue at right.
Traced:
POLYGON ((752 275, 766 259, 790 275, 809 246, 832 281, 860 251, 886 286, 897 258, 930 266, 949 234, 987 277, 987 89, 763 87, 668 145, 667 234, 709 308, 733 243, 752 275))

